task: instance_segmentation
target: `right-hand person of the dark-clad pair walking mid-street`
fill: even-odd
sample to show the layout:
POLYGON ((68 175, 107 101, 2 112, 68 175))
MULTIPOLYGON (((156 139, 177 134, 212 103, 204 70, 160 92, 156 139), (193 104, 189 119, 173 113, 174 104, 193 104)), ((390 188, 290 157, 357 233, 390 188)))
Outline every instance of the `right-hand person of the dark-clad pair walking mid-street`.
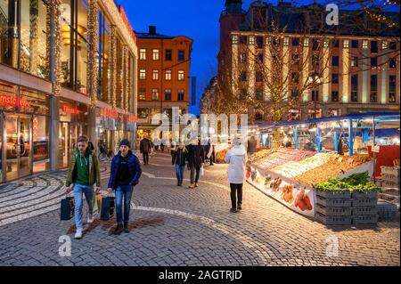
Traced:
POLYGON ((205 154, 203 147, 201 146, 201 142, 197 142, 196 140, 188 145, 188 168, 191 170, 191 185, 190 189, 198 187, 199 184, 199 176, 201 173, 201 166, 203 166, 205 162, 205 154))

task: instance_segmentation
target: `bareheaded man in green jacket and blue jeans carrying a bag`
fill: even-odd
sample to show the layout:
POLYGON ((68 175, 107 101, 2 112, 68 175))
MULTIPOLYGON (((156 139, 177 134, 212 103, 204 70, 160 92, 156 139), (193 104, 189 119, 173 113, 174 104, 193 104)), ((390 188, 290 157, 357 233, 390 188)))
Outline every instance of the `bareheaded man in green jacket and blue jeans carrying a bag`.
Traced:
POLYGON ((88 147, 88 138, 79 136, 77 149, 70 160, 69 172, 67 174, 67 193, 74 190, 75 200, 75 223, 77 232, 75 239, 82 238, 82 195, 85 194, 89 207, 87 223, 94 222, 94 183, 96 183, 96 194, 100 192, 100 169, 99 161, 88 147))

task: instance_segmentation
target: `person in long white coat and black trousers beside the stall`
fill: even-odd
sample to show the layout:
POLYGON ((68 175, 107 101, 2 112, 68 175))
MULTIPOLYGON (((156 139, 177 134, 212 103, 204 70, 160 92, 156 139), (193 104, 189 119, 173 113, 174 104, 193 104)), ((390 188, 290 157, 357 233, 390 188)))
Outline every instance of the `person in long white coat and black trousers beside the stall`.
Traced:
POLYGON ((242 184, 247 162, 247 150, 241 145, 240 138, 233 139, 233 147, 225 154, 225 163, 228 165, 228 183, 231 189, 231 212, 242 209, 242 184), (237 203, 238 198, 238 203, 237 203))

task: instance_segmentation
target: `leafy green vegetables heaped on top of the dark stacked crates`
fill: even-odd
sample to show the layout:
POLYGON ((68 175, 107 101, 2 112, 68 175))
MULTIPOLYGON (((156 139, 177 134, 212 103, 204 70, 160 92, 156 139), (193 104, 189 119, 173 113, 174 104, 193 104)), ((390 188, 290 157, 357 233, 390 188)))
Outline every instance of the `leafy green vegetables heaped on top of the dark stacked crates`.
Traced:
POLYGON ((376 191, 379 187, 369 181, 368 172, 351 174, 346 178, 331 178, 327 182, 315 184, 315 189, 319 191, 376 191))

